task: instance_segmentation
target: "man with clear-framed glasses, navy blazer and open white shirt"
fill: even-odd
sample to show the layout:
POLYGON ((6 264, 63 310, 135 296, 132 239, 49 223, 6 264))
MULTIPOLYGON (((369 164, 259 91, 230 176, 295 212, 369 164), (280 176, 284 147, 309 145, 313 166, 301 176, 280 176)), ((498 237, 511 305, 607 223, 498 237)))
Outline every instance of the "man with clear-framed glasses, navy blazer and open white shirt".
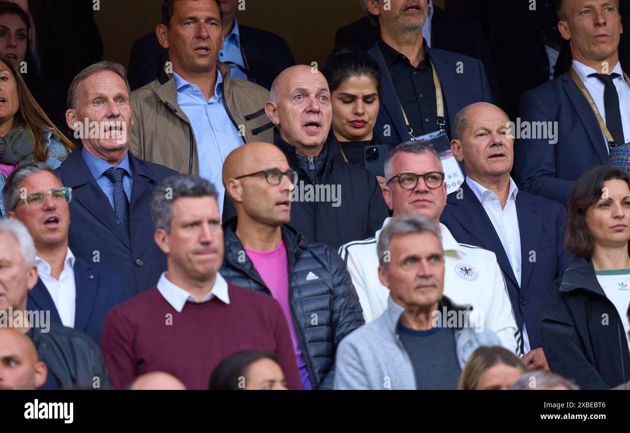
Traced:
POLYGON ((50 319, 81 330, 97 344, 112 306, 130 298, 117 271, 84 261, 68 247, 72 188, 48 164, 31 162, 11 173, 3 191, 7 217, 25 225, 37 249, 39 279, 28 292, 28 310, 50 311, 50 319))

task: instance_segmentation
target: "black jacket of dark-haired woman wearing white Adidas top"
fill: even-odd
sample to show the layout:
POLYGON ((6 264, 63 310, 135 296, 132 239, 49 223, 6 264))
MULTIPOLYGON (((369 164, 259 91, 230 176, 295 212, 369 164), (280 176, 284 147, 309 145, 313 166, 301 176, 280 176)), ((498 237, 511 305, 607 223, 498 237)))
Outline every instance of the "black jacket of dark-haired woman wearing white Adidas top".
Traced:
POLYGON ((554 373, 585 390, 630 380, 630 352, 621 317, 597 281, 590 260, 576 257, 542 309, 542 347, 554 373), (560 283, 561 281, 561 283, 560 283))

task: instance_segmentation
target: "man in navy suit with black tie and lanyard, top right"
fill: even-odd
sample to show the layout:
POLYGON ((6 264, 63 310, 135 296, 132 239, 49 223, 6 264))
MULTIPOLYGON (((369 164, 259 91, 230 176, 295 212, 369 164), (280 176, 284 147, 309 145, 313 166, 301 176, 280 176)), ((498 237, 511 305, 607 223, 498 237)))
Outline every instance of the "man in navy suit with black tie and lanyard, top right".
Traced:
MULTIPOLYGON (((591 76, 619 74, 613 79, 621 109, 624 142, 630 142, 630 87, 619 64, 621 15, 617 2, 564 1, 558 11, 558 28, 570 40, 573 69, 592 95, 604 120, 605 90, 591 76), (595 7, 592 6, 595 4, 595 7), (589 6, 591 5, 591 6, 589 6), (587 15, 582 15, 588 11, 587 15), (596 35, 609 35, 595 40, 596 35)), ((520 124, 515 137, 514 177, 525 191, 558 201, 566 206, 575 181, 588 169, 608 164, 608 143, 590 104, 566 72, 523 95, 520 124), (536 123, 534 123, 536 122, 536 123), (540 123, 539 123, 540 122, 540 123), (542 135, 521 136, 520 130, 534 125, 542 135), (552 137, 549 137, 552 135, 552 137), (520 138, 519 138, 520 137, 520 138)), ((606 123, 609 126, 609 122, 606 123)))

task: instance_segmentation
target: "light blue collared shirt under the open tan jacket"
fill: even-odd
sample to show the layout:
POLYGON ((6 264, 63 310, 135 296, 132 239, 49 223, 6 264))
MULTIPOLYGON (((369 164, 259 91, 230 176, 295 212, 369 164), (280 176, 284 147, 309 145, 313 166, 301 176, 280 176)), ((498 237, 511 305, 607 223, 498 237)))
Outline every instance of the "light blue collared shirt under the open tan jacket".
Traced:
POLYGON ((219 193, 219 211, 223 211, 223 162, 232 150, 244 143, 223 104, 223 76, 217 69, 214 95, 205 100, 203 93, 173 72, 177 86, 177 103, 193 127, 199 157, 199 176, 208 179, 219 193))

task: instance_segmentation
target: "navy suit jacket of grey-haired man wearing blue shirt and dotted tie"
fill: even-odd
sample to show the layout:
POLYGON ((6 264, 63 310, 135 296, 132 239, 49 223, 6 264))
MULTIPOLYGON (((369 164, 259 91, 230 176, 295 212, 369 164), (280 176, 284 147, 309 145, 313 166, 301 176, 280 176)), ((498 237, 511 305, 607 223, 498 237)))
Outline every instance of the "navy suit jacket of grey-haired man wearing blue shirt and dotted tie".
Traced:
POLYGON ((134 183, 129 203, 131 239, 122 226, 116 224, 116 213, 103 190, 75 149, 55 170, 64 186, 72 188, 70 202, 69 247, 76 257, 101 263, 125 276, 132 295, 157 284, 166 271, 166 256, 153 240, 149 202, 157 183, 178 173, 159 164, 146 162, 129 152, 129 164, 134 183))

